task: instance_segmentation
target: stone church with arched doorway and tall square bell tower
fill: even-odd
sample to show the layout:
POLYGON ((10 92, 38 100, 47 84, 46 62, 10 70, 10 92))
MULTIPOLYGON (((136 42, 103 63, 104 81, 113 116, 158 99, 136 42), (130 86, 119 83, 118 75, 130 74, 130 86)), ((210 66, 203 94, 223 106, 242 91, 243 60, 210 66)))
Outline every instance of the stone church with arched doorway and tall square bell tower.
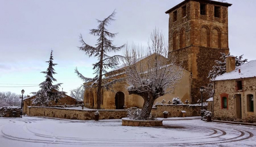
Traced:
MULTIPOLYGON (((199 88, 207 86, 209 71, 221 53, 229 53, 228 47, 228 7, 232 4, 212 0, 184 0, 167 10, 169 14, 169 53, 183 62, 184 76, 171 94, 166 94, 156 101, 166 102, 179 97, 184 103, 195 104, 201 99, 199 88)), ((143 59, 142 59, 143 60, 143 59)), ((143 62, 143 61, 142 61, 143 62)), ((117 72, 118 77, 125 76, 125 67, 118 67, 110 72, 117 72)), ((103 91, 102 109, 123 109, 142 107, 143 99, 138 95, 129 95, 126 83, 116 84, 115 92, 103 91)), ((96 89, 85 89, 84 104, 96 108, 96 89)), ((204 102, 208 99, 203 95, 204 102)))

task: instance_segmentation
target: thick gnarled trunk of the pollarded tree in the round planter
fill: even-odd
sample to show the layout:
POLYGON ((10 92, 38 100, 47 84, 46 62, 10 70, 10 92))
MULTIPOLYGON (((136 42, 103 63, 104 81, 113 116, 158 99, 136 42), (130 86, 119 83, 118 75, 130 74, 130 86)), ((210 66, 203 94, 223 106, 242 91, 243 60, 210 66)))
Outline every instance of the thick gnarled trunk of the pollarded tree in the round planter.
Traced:
POLYGON ((153 98, 148 98, 148 97, 144 98, 143 107, 141 109, 140 117, 139 117, 140 120, 146 120, 150 116, 154 101, 155 99, 153 98))

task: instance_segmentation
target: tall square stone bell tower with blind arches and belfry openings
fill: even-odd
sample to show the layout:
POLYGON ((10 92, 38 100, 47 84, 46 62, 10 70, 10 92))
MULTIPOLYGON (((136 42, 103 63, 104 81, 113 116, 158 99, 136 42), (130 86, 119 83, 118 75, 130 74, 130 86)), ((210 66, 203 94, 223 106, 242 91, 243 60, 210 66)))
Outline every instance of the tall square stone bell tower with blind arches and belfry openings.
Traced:
MULTIPOLYGON (((201 98, 199 88, 207 86, 209 71, 220 53, 229 53, 228 7, 212 0, 184 0, 167 10, 169 14, 169 54, 183 62, 191 73, 190 100, 201 98)), ((205 99, 208 99, 206 94, 205 99)))

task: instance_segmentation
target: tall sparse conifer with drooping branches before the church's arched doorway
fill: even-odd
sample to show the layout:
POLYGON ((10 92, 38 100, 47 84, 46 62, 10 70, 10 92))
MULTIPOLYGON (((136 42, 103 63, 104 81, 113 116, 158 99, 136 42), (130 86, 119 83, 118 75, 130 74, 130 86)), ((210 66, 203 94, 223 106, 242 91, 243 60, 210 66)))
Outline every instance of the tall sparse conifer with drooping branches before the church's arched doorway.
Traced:
POLYGON ((98 62, 93 64, 93 69, 95 70, 94 74, 96 74, 94 78, 84 77, 78 72, 77 68, 75 68, 75 73, 84 82, 93 83, 90 85, 85 85, 85 87, 97 88, 97 109, 100 109, 102 89, 110 90, 112 84, 118 81, 118 79, 104 78, 104 76, 108 74, 106 70, 117 67, 121 57, 119 55, 109 56, 107 53, 120 51, 124 47, 124 45, 119 47, 113 45, 113 41, 110 39, 115 38, 117 33, 110 33, 106 29, 106 27, 115 20, 115 14, 116 12, 114 11, 111 15, 102 21, 97 20, 99 23, 98 27, 96 29, 90 30, 90 34, 99 37, 97 39, 97 43, 95 44, 96 47, 86 44, 82 38, 82 35, 80 35, 80 43, 82 46, 79 47, 79 49, 84 51, 85 54, 89 57, 97 57, 98 62))

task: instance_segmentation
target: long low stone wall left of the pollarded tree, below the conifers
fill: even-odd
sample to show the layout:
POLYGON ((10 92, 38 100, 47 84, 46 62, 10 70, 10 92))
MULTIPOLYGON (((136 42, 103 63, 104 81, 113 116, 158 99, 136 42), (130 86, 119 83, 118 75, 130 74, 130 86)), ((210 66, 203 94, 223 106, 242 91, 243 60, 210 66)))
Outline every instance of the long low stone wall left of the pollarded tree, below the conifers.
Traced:
POLYGON ((53 107, 28 106, 29 116, 46 116, 74 120, 94 120, 94 112, 99 111, 99 119, 121 119, 127 117, 127 110, 77 110, 53 107))

